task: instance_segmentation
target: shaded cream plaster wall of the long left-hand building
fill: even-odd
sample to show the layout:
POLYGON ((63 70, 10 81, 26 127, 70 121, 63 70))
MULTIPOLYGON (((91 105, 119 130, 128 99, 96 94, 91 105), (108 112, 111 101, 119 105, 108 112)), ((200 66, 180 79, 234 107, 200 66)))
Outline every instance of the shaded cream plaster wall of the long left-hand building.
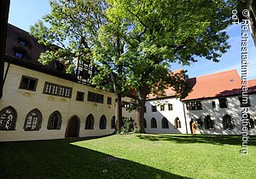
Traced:
MULTIPOLYGON (((5 64, 7 66, 7 64, 5 64)), ((5 67, 6 68, 6 67, 5 67)), ((5 69, 6 70, 6 69, 5 69)), ((0 110, 4 107, 14 107, 17 112, 15 130, 0 130, 0 141, 44 140, 65 137, 67 121, 76 115, 80 121, 79 136, 102 136, 111 134, 111 118, 114 115, 114 95, 103 90, 95 90, 83 84, 77 84, 66 79, 56 78, 42 72, 36 72, 24 67, 10 65, 3 86, 3 98, 0 110), (36 91, 20 90, 22 75, 38 78, 36 91), (45 81, 73 88, 72 98, 43 94, 45 81), (76 101, 77 91, 84 92, 84 101, 76 101), (88 91, 104 95, 104 103, 87 101, 88 91), (112 97, 112 105, 107 105, 107 98, 112 97), (38 108, 43 115, 42 126, 37 131, 24 131, 23 126, 27 113, 38 108), (62 116, 61 130, 47 130, 49 115, 58 110, 62 116), (85 119, 89 114, 94 116, 94 130, 84 130, 85 119), (107 129, 99 130, 102 115, 107 117, 107 129)))

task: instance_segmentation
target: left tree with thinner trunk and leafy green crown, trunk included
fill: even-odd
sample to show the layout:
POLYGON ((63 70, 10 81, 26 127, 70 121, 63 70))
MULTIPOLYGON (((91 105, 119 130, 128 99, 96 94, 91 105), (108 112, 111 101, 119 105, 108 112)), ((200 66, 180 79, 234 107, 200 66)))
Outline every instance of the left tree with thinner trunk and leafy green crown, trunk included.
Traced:
POLYGON ((42 53, 39 61, 45 65, 50 61, 68 61, 71 65, 67 72, 73 72, 74 61, 90 61, 100 66, 93 82, 98 88, 116 94, 116 128, 119 130, 124 86, 121 55, 125 43, 119 37, 124 30, 122 23, 106 14, 108 3, 104 0, 50 0, 49 4, 51 13, 31 26, 31 34, 38 38, 38 43, 53 47, 42 53))

